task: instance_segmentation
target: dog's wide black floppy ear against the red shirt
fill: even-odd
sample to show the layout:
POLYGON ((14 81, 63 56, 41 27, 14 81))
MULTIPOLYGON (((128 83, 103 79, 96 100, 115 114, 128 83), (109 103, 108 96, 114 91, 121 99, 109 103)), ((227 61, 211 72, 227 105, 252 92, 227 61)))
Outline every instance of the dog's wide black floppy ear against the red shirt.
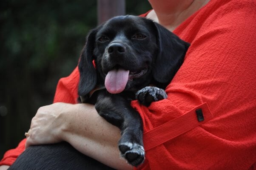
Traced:
POLYGON ((158 23, 154 25, 157 30, 159 53, 156 57, 153 77, 157 82, 168 83, 182 65, 190 44, 158 23))

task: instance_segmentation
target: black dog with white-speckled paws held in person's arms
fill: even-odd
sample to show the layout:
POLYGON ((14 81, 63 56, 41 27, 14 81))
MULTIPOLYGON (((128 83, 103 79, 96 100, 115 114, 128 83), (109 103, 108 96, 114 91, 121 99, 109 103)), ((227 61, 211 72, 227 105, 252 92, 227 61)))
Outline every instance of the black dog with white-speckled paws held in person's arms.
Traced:
MULTIPOLYGON (((119 127, 122 135, 119 150, 129 164, 138 166, 145 157, 142 121, 139 113, 131 107, 131 100, 137 98, 142 105, 148 106, 151 102, 165 99, 167 95, 162 89, 171 82, 182 65, 188 47, 187 42, 159 24, 129 15, 114 17, 88 34, 79 62, 78 94, 81 102, 95 104, 100 116, 119 127)), ((47 166, 65 164, 73 169, 88 166, 88 169, 107 169, 99 167, 104 165, 98 162, 88 161, 90 158, 76 153, 65 142, 31 146, 12 168, 20 168, 23 166, 21 164, 27 164, 26 169, 29 169, 28 164, 35 168, 38 161, 46 162, 46 159, 31 156, 31 152, 44 155, 60 153, 60 156, 47 159, 47 166), (46 147, 51 147, 52 151, 46 147), (65 150, 80 161, 69 160, 65 150)))

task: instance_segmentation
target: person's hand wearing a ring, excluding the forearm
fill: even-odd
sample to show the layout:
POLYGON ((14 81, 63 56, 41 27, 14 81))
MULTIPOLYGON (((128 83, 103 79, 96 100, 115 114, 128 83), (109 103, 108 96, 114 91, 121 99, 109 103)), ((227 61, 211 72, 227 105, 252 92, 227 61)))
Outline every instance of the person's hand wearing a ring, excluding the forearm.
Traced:
POLYGON ((60 131, 65 123, 63 116, 72 111, 72 105, 54 103, 38 109, 31 120, 27 136, 26 148, 35 144, 49 144, 61 142, 60 131))

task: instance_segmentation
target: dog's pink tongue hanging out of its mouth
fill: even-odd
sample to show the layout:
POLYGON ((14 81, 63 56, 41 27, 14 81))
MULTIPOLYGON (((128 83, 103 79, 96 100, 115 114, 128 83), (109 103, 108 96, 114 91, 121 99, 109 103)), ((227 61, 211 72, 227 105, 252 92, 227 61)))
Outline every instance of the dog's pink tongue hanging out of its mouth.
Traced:
POLYGON ((129 70, 119 68, 108 71, 105 78, 105 87, 109 93, 117 94, 121 93, 128 82, 129 70))

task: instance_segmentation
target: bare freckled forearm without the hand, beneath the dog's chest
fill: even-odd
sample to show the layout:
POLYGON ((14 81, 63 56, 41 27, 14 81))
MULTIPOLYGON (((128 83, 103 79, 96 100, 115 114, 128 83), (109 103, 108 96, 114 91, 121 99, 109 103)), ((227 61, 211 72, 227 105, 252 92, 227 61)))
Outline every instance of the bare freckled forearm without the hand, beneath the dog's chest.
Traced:
POLYGON ((62 126, 60 137, 81 153, 90 156, 115 169, 132 169, 119 156, 118 141, 120 130, 106 122, 94 108, 94 105, 71 105, 73 113, 69 121, 62 126))

